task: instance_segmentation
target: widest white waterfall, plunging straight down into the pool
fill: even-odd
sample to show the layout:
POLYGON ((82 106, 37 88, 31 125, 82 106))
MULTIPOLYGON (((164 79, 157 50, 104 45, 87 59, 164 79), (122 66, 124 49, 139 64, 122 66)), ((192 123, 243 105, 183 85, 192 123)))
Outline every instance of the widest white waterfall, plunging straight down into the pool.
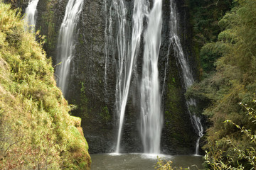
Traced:
POLYGON ((154 0, 144 34, 141 84, 141 135, 144 153, 159 154, 163 115, 159 88, 158 58, 161 45, 162 1, 154 0))

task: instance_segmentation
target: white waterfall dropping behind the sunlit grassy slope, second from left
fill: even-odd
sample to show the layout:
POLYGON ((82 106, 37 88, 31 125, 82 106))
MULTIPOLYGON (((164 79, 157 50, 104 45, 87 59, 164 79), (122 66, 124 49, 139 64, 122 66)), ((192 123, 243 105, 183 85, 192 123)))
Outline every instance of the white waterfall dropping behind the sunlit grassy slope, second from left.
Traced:
POLYGON ((69 0, 65 8, 65 16, 60 26, 58 36, 58 53, 56 69, 57 85, 65 96, 68 87, 68 74, 70 72, 70 62, 73 59, 75 49, 75 28, 82 11, 83 0, 69 0))

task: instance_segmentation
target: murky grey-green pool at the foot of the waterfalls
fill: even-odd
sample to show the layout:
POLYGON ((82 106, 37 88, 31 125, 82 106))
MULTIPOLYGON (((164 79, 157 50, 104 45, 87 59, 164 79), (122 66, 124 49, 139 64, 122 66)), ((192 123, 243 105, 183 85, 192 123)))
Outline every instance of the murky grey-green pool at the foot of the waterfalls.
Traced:
MULTIPOLYGON (((154 170, 156 155, 146 154, 91 154, 92 170, 154 170)), ((203 169, 203 158, 193 155, 164 156, 163 159, 171 160, 174 166, 190 169, 203 169), (196 167, 196 166, 197 167, 196 167)))

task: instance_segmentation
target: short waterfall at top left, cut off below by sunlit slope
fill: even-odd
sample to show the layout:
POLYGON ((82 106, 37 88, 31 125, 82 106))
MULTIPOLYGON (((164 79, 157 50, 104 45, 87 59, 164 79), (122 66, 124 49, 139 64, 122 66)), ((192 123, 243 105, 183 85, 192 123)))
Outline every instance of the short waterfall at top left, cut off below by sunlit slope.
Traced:
POLYGON ((25 10, 25 22, 28 23, 27 30, 35 31, 36 26, 36 6, 38 5, 39 0, 31 0, 28 4, 28 7, 25 10))

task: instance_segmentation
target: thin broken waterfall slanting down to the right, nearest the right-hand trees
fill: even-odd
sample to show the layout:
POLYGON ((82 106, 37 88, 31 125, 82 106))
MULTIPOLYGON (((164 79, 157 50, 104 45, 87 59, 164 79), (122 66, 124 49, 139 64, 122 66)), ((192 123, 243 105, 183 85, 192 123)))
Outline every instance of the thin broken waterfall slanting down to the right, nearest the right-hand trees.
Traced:
MULTIPOLYGON (((174 51, 176 58, 178 59, 178 63, 181 65, 182 69, 182 75, 183 75, 183 81, 185 89, 187 90, 194 82, 191 69, 189 68, 188 62, 186 60, 186 57, 183 53, 183 49, 181 47, 180 39, 178 38, 177 33, 177 12, 176 12, 176 6, 174 4, 174 0, 171 0, 171 17, 170 17, 170 38, 171 38, 171 44, 174 46, 174 51)), ((186 101, 186 106, 189 108, 189 106, 195 106, 196 107, 196 100, 193 98, 188 98, 186 101)), ((200 138, 203 137, 203 126, 201 125, 201 119, 198 118, 196 115, 192 115, 191 112, 188 109, 188 112, 191 116, 191 122, 193 124, 193 128, 196 130, 198 134, 198 140, 196 140, 196 154, 198 154, 199 150, 199 141, 200 138)))

